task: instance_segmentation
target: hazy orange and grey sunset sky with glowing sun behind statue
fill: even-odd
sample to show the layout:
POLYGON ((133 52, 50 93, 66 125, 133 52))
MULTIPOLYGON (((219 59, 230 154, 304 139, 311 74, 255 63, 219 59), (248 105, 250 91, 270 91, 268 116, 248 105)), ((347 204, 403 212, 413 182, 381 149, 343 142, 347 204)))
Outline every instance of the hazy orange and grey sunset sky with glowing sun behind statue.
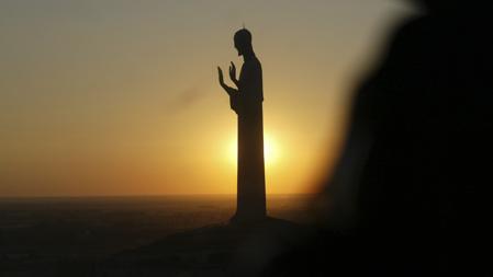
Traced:
POLYGON ((0 196, 235 193, 215 68, 240 67, 243 23, 264 67, 267 191, 311 192, 404 2, 2 0, 0 196))

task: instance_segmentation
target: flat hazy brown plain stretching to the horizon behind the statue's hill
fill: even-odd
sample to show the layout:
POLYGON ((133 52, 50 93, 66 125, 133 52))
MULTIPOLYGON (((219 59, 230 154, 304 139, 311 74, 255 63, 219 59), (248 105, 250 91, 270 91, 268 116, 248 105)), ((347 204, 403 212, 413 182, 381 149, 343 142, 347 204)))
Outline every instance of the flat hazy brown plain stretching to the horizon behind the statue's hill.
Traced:
MULTIPOLYGON (((303 222, 310 198, 268 196, 269 215, 303 222)), ((104 258, 169 234, 225 222, 235 204, 234 195, 1 198, 0 273, 53 274, 58 266, 104 258)))

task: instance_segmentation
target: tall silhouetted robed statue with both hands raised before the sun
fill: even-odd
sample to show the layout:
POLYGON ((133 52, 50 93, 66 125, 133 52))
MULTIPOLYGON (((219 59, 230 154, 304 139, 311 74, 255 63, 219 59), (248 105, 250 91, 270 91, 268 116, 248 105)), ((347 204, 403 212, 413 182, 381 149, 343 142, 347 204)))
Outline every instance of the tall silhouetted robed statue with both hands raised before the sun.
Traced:
POLYGON ((232 221, 257 221, 266 217, 266 182, 264 166, 262 69, 251 46, 251 34, 243 28, 235 33, 235 48, 244 64, 239 79, 236 67, 229 66, 229 78, 237 86, 221 86, 229 96, 231 108, 238 115, 237 208, 232 221))

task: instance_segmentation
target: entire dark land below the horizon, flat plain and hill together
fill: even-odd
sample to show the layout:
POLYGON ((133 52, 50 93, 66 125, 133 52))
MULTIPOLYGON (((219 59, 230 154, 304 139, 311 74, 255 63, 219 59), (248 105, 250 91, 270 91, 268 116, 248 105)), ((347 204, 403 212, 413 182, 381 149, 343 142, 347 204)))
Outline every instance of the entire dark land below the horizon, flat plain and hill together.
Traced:
POLYGON ((234 196, 0 199, 0 276, 254 276, 309 230, 310 196, 228 224, 234 196))

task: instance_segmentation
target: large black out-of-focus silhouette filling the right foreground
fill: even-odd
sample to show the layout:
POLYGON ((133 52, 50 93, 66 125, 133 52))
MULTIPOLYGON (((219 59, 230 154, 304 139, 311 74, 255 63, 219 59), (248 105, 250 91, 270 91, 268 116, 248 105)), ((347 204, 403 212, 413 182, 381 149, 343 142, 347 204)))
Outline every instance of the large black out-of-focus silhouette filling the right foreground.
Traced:
POLYGON ((493 4, 415 2, 356 92, 325 231, 272 275, 493 276, 493 4))

